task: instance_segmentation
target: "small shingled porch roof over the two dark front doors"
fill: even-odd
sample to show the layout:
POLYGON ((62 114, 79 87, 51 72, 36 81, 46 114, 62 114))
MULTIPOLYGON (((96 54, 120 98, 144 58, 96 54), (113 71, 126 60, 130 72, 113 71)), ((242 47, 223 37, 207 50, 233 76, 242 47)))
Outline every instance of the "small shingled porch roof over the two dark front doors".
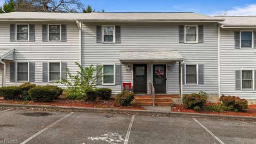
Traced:
POLYGON ((178 51, 120 51, 121 62, 131 61, 183 61, 178 51))

